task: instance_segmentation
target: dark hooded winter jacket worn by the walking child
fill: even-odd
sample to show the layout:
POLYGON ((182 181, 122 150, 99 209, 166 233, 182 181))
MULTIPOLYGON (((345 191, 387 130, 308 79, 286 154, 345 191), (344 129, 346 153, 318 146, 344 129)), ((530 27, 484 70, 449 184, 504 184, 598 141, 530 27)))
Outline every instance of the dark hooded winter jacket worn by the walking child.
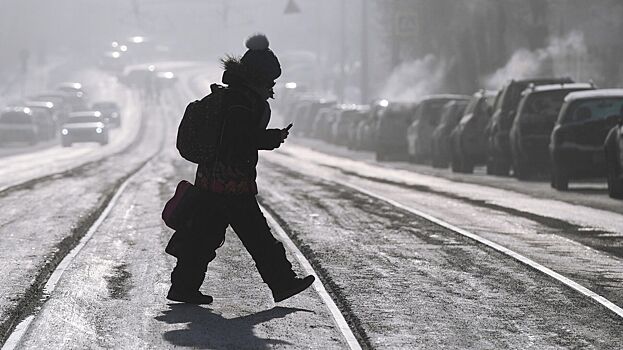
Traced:
POLYGON ((266 129, 270 106, 245 79, 244 67, 235 59, 225 62, 223 97, 225 114, 217 160, 199 164, 195 185, 210 192, 257 194, 258 150, 272 150, 281 144, 281 130, 266 129))

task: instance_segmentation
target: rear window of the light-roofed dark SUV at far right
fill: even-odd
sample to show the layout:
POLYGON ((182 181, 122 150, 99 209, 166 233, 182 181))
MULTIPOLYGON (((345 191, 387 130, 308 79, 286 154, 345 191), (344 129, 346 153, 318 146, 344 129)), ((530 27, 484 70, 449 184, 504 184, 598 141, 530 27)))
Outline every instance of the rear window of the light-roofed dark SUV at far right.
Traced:
POLYGON ((582 100, 573 104, 565 113, 563 122, 589 122, 621 115, 623 97, 582 100))

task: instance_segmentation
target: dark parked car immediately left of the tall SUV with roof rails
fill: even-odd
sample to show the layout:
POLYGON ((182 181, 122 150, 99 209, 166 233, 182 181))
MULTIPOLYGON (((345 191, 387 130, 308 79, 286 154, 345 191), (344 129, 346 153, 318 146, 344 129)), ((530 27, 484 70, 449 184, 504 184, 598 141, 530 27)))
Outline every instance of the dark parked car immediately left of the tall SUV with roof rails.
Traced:
POLYGON ((485 128, 491 119, 496 96, 500 96, 500 93, 489 90, 474 93, 461 120, 452 130, 450 162, 453 172, 472 173, 474 166, 485 165, 487 161, 485 128))

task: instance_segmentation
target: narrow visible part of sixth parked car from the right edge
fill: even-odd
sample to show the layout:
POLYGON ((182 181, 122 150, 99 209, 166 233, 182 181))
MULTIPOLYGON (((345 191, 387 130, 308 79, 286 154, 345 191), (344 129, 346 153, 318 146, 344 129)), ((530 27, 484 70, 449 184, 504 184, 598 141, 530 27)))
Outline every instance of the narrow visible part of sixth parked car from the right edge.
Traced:
POLYGON ((434 168, 447 168, 450 164, 450 134, 457 126, 469 100, 450 101, 443 107, 439 125, 433 131, 431 161, 434 168))

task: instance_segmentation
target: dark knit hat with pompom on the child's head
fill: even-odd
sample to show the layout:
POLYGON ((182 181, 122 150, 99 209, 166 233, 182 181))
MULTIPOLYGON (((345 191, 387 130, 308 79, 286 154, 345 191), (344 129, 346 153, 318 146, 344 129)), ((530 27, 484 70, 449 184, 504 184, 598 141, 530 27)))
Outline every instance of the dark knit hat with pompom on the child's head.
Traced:
POLYGON ((281 75, 279 60, 268 45, 264 34, 255 34, 247 39, 245 46, 248 50, 240 59, 240 63, 262 83, 270 83, 281 75))

